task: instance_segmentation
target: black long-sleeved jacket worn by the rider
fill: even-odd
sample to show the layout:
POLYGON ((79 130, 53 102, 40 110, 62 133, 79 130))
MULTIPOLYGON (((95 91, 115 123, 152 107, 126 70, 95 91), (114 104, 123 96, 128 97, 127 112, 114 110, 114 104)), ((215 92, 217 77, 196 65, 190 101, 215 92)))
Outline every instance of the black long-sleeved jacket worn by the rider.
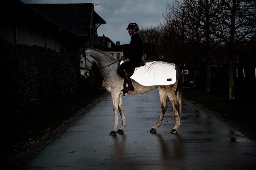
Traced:
POLYGON ((130 51, 124 54, 125 58, 129 58, 129 63, 136 67, 142 62, 143 55, 143 42, 139 33, 135 33, 131 36, 130 51))

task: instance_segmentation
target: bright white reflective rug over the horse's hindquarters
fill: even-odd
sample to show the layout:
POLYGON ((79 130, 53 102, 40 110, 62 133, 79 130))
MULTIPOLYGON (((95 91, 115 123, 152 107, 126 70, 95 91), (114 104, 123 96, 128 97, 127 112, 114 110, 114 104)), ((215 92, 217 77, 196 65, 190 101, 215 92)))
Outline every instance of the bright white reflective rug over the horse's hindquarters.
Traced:
POLYGON ((147 62, 135 68, 131 79, 144 86, 172 85, 176 82, 175 65, 162 61, 147 62))

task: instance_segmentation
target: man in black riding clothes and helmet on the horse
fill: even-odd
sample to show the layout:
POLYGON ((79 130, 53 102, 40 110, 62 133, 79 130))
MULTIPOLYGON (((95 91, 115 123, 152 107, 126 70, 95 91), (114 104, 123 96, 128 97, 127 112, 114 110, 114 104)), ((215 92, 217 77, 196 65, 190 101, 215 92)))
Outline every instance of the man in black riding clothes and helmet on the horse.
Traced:
POLYGON ((130 50, 120 57, 120 60, 129 58, 129 61, 126 61, 120 65, 120 70, 122 70, 122 74, 124 75, 125 80, 127 81, 128 87, 124 91, 134 91, 134 87, 132 85, 131 78, 127 72, 127 70, 133 69, 137 67, 142 62, 142 55, 143 55, 143 47, 142 47, 142 39, 137 33, 139 31, 139 26, 132 22, 130 23, 126 30, 131 36, 130 42, 130 50))

